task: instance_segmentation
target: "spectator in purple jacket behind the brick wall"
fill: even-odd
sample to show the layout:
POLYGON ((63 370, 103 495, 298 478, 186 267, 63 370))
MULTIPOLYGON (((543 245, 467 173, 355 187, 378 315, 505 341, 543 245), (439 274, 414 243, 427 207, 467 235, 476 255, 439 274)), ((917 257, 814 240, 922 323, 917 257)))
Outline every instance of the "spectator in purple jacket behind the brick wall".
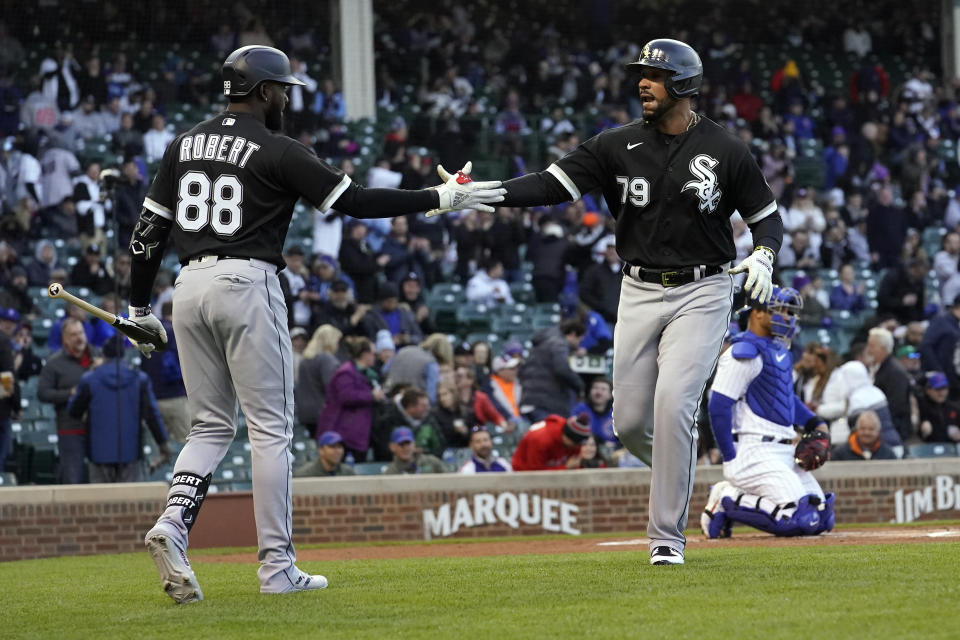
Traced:
POLYGON ((364 374, 375 360, 373 343, 361 336, 343 342, 349 359, 330 378, 316 432, 336 431, 354 459, 363 461, 370 447, 374 404, 386 400, 386 395, 364 374))

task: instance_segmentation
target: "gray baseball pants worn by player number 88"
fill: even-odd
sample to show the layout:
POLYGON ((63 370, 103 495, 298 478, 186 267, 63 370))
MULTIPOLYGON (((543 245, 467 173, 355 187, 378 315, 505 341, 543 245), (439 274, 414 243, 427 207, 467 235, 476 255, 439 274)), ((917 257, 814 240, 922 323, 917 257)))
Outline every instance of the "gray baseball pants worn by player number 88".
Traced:
MULTIPOLYGON (((252 449, 258 576, 262 589, 280 590, 298 574, 291 537, 293 360, 276 267, 262 260, 192 260, 177 278, 173 305, 191 421, 174 477, 216 470, 236 433, 239 401, 252 449)), ((191 491, 174 484, 169 495, 191 491)), ((183 507, 168 506, 158 524, 175 528, 186 547, 183 514, 183 507)))

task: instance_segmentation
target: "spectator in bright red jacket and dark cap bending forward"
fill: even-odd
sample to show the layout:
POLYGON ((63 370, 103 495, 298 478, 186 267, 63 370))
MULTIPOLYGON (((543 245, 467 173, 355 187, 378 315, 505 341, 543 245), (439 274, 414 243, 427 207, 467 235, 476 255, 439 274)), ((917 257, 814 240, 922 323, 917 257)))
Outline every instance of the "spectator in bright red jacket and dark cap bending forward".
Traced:
POLYGON ((578 469, 580 445, 590 437, 590 417, 550 414, 530 427, 513 453, 514 471, 578 469))

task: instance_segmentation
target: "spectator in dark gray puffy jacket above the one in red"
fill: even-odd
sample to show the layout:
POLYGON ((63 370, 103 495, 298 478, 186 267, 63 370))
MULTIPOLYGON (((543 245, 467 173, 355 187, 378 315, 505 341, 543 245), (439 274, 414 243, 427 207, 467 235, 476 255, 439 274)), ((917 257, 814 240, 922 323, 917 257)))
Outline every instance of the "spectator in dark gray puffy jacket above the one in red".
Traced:
POLYGON ((583 391, 583 380, 570 368, 570 353, 586 333, 579 320, 564 320, 559 327, 533 334, 529 359, 520 368, 523 400, 520 411, 530 422, 548 414, 567 415, 573 397, 583 391))

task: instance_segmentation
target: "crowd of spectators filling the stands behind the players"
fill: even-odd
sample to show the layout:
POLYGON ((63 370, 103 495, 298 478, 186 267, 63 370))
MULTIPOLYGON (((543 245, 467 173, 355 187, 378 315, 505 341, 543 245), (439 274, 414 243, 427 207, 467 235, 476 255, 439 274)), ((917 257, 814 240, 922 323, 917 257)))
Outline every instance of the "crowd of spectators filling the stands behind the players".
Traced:
MULTIPOLYGON (((718 5, 712 21, 690 26, 692 4, 651 17, 610 3, 570 3, 567 12, 545 12, 539 1, 510 11, 494 2, 450 3, 448 11, 422 12, 377 2, 377 101, 392 115, 373 142, 356 139, 344 121, 327 34, 316 26, 329 18, 324 7, 253 2, 226 10, 198 2, 181 7, 195 18, 184 22, 170 8, 121 12, 108 2, 97 21, 68 18, 69 32, 57 26, 64 16, 56 2, 36 15, 5 12, 0 306, 18 318, 11 352, 27 353, 23 326, 55 320, 36 308, 33 287, 54 280, 85 287, 105 306, 123 308, 125 241, 150 169, 195 121, 169 110, 215 111, 219 60, 236 46, 290 53, 304 86, 290 93, 287 133, 359 182, 419 188, 436 182, 437 162, 460 166, 482 152, 478 166, 503 172, 483 177, 509 177, 629 122, 639 104, 622 63, 637 57, 637 34, 669 33, 703 58, 697 111, 750 145, 777 196, 786 229, 778 276, 804 297, 797 341, 804 400, 835 425, 838 447, 869 451, 873 443, 857 439, 857 425, 872 420, 897 456, 918 442, 960 441, 950 422, 960 398, 960 107, 956 87, 938 75, 933 9, 880 2, 841 12, 827 3, 813 10, 742 0, 734 3, 742 20, 724 19, 736 7, 718 5), (773 27, 784 38, 774 38, 773 27), (134 38, 141 37, 156 44, 150 56, 139 55, 134 38), (174 41, 216 56, 191 56, 174 41), (763 66, 758 48, 769 52, 763 66), (825 48, 841 61, 840 85, 818 79, 814 58, 804 55, 825 48), (893 56, 909 64, 895 82, 893 56), (90 159, 97 141, 108 144, 107 159, 90 159), (364 145, 374 149, 367 165, 358 161, 364 145), (113 164, 117 174, 102 181, 101 170, 113 164), (856 322, 837 326, 839 313, 856 322), (838 331, 852 335, 839 341, 838 331), (897 355, 906 348, 913 351, 897 355)), ((749 233, 738 217, 732 224, 742 258, 752 249, 749 233)), ((316 470, 341 473, 343 460, 421 470, 436 466, 431 456, 450 468, 445 453, 466 447, 472 469, 506 470, 476 426, 522 442, 529 425, 569 425, 571 416, 589 423, 582 448, 594 453, 576 454, 583 464, 630 463, 613 456, 609 380, 569 364, 573 354, 604 356, 612 344, 622 277, 613 228, 598 194, 553 208, 436 218, 314 212, 311 230, 291 233, 281 279, 298 354, 298 420, 321 451, 330 449, 316 470), (458 284, 463 304, 494 309, 516 305, 517 287, 527 282, 528 304, 557 305, 558 321, 519 344, 461 345, 462 334, 439 326, 431 294, 440 285, 458 284)), ((158 277, 155 309, 172 296, 174 276, 175 268, 158 277)), ((71 430, 85 433, 70 427, 64 394, 92 366, 84 349, 110 338, 102 323, 76 320, 52 327, 40 345, 46 367, 69 358, 61 364, 72 378, 56 397, 40 398, 57 403, 66 425, 61 451, 77 435, 71 430)), ((155 387, 165 373, 174 375, 154 372, 155 387)), ((17 369, 20 382, 29 375, 17 369)), ((170 393, 161 408, 175 405, 182 416, 182 393, 170 393)), ((172 436, 181 433, 181 417, 166 422, 172 436)), ((716 460, 709 430, 703 435, 703 460, 716 460)))

